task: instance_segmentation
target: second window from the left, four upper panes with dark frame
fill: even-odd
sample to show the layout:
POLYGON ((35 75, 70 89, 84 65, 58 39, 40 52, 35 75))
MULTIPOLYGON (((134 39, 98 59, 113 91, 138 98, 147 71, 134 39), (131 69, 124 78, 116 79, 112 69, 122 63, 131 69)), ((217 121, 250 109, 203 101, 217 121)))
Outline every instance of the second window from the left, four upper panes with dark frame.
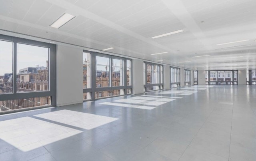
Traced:
POLYGON ((84 101, 132 93, 132 60, 84 51, 83 63, 84 101))

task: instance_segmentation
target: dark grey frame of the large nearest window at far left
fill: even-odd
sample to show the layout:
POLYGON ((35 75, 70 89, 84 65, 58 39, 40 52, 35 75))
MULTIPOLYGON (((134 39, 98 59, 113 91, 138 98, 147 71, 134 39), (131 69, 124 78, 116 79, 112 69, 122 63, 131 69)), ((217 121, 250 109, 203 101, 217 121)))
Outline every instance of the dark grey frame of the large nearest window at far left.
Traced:
POLYGON ((6 94, 0 94, 0 101, 6 101, 6 100, 13 100, 13 99, 25 99, 25 98, 34 98, 34 97, 48 97, 51 96, 51 105, 46 106, 38 106, 38 107, 28 107, 28 108, 22 108, 22 109, 15 109, 10 111, 3 111, 0 114, 4 113, 13 113, 17 111, 26 111, 31 109, 39 109, 39 108, 45 108, 50 106, 56 105, 56 45, 49 44, 45 42, 38 42, 35 40, 28 40, 24 38, 18 38, 18 37, 12 37, 12 36, 6 36, 0 34, 0 40, 8 41, 13 43, 13 58, 12 58, 12 83, 13 83, 13 92, 12 93, 6 93, 6 94), (17 44, 26 44, 31 46, 38 46, 38 47, 44 47, 49 49, 49 91, 35 91, 35 92, 28 92, 28 93, 17 93, 17 44))

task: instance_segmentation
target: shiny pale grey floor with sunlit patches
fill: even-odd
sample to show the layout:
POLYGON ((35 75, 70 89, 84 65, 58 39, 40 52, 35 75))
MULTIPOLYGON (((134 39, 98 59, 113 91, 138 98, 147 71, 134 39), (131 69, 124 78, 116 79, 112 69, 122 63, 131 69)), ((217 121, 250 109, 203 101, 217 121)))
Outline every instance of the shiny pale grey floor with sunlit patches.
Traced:
POLYGON ((0 161, 256 161, 256 85, 195 86, 0 116, 0 161))

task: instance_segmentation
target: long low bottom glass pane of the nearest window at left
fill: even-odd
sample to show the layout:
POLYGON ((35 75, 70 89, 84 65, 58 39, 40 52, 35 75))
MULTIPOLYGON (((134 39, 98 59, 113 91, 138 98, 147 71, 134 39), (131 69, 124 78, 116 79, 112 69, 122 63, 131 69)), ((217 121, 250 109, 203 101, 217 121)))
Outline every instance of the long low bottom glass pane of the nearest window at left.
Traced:
POLYGON ((51 105, 51 97, 35 97, 0 101, 0 111, 51 105))

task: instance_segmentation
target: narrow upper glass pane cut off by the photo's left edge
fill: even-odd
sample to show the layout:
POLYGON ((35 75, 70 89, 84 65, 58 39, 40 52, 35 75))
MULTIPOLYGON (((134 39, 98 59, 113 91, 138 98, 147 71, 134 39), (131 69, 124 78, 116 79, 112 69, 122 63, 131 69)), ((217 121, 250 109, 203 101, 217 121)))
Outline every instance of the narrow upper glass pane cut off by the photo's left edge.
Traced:
POLYGON ((0 40, 0 94, 12 93, 12 42, 0 40))

